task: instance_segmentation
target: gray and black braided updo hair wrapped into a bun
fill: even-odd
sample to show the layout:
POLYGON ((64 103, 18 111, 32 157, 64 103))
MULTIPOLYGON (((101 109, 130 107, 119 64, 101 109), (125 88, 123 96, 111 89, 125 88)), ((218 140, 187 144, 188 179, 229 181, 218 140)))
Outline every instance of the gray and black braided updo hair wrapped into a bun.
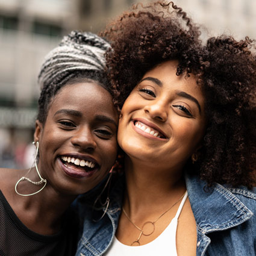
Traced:
POLYGON ((108 49, 110 44, 96 34, 72 31, 46 55, 38 76, 40 122, 45 123, 52 98, 66 84, 96 81, 111 93, 105 73, 108 49))

